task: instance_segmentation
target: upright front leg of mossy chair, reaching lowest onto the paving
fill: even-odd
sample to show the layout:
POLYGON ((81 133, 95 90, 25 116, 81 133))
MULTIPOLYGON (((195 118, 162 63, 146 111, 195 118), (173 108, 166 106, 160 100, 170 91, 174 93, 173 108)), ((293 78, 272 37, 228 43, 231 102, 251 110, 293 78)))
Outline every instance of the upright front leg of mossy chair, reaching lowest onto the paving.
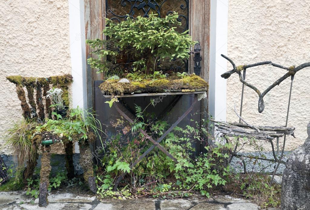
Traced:
POLYGON ((47 206, 47 194, 49 186, 49 175, 51 172, 50 146, 42 146, 41 170, 40 170, 40 188, 39 188, 39 206, 47 206))

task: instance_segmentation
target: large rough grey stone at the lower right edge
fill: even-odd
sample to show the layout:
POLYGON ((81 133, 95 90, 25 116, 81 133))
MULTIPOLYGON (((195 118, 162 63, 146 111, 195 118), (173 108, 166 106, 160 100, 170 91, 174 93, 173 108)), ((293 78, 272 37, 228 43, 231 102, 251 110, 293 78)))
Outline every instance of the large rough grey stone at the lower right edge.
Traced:
POLYGON ((310 209, 310 122, 308 138, 286 161, 282 177, 281 209, 310 209))

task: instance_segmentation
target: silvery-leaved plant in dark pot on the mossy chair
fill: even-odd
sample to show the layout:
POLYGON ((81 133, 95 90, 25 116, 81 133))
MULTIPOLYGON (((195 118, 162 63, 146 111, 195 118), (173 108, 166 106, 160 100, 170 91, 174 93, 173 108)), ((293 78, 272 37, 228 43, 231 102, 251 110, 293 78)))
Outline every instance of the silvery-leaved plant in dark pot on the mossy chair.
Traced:
POLYGON ((62 94, 63 90, 61 90, 60 88, 53 87, 49 91, 47 91, 46 98, 51 99, 51 107, 55 108, 55 114, 57 118, 64 118, 67 115, 68 107, 64 106, 62 94))

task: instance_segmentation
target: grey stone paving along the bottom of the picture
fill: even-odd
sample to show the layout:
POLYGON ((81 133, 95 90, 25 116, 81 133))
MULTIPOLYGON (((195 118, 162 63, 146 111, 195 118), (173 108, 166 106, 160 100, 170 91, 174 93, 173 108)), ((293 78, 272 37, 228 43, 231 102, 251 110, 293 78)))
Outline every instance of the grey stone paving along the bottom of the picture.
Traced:
MULTIPOLYGON (((229 196, 215 196, 210 199, 127 199, 102 200, 95 196, 76 196, 72 193, 52 193, 49 205, 38 207, 38 199, 33 200, 25 192, 0 192, 0 210, 261 210, 248 200, 229 196), (33 203, 33 204, 31 204, 33 203)), ((268 210, 279 210, 268 208, 268 210)))

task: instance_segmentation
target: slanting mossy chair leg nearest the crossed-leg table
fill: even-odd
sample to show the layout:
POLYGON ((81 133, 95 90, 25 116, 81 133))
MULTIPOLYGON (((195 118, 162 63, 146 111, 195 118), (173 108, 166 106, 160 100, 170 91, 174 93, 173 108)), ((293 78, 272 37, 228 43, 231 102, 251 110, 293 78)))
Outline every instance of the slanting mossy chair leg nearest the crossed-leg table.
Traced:
POLYGON ((93 156, 88 141, 79 143, 80 146, 80 166, 84 171, 84 180, 88 183, 89 189, 96 194, 97 187, 93 170, 93 156))

